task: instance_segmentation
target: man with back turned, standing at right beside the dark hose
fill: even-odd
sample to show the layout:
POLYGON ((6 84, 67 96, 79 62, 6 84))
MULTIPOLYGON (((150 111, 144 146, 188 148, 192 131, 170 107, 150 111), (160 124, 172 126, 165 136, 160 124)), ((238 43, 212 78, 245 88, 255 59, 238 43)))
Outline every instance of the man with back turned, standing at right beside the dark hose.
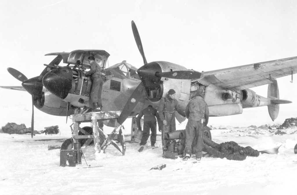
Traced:
POLYGON ((203 88, 199 87, 198 95, 192 98, 186 107, 186 116, 188 118, 186 126, 186 146, 184 150, 184 158, 186 161, 192 156, 193 152, 196 154, 196 160, 200 161, 202 157, 203 148, 203 127, 208 123, 208 106, 203 99, 203 88))

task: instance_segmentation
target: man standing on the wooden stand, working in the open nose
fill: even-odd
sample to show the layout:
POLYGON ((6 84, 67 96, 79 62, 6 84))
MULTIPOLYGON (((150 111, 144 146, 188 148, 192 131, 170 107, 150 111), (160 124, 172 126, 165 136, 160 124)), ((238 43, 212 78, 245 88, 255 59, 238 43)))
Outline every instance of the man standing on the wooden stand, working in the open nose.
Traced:
POLYGON ((94 56, 89 56, 88 61, 91 68, 88 72, 85 72, 86 76, 91 76, 92 88, 91 88, 91 100, 93 102, 93 111, 100 112, 102 109, 102 85, 103 80, 101 77, 101 67, 95 62, 94 56))

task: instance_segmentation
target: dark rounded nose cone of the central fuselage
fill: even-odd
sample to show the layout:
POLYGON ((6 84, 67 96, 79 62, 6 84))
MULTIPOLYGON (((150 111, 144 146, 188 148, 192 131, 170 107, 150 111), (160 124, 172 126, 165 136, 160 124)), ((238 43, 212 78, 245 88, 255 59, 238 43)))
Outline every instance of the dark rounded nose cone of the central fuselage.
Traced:
POLYGON ((42 83, 50 93, 65 99, 71 90, 72 76, 70 67, 56 68, 44 75, 42 83))

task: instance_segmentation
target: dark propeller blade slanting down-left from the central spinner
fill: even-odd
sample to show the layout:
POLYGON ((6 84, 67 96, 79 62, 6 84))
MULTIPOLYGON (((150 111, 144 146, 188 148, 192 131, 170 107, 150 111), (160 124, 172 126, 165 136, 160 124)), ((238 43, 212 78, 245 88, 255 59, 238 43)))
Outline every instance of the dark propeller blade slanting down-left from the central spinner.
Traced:
POLYGON ((118 123, 121 125, 124 123, 124 121, 128 118, 128 116, 131 114, 133 109, 135 108, 136 104, 141 98, 142 92, 144 90, 144 85, 141 82, 137 88, 133 91, 132 95, 129 97, 126 105, 123 108, 123 111, 121 112, 118 123))

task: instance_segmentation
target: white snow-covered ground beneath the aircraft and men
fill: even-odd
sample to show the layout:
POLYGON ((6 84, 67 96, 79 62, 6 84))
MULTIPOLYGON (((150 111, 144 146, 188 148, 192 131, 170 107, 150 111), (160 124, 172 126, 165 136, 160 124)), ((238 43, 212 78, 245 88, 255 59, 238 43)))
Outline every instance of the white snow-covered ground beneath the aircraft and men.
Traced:
MULTIPOLYGON (((129 129, 126 129, 129 132, 129 129)), ((260 154, 244 161, 195 158, 188 161, 162 158, 161 147, 137 150, 137 143, 126 143, 126 155, 113 146, 106 153, 86 153, 86 162, 76 167, 60 167, 61 145, 68 135, 0 134, 1 194, 296 194, 297 129, 275 130, 214 128, 217 143, 235 141, 257 150, 281 145, 279 153, 260 154), (90 168, 86 168, 87 165, 90 168), (162 170, 150 170, 166 164, 162 170)), ((129 140, 129 136, 126 136, 129 140)), ((150 143, 148 142, 148 145, 150 143)), ((161 137, 157 136, 157 145, 161 137)))

